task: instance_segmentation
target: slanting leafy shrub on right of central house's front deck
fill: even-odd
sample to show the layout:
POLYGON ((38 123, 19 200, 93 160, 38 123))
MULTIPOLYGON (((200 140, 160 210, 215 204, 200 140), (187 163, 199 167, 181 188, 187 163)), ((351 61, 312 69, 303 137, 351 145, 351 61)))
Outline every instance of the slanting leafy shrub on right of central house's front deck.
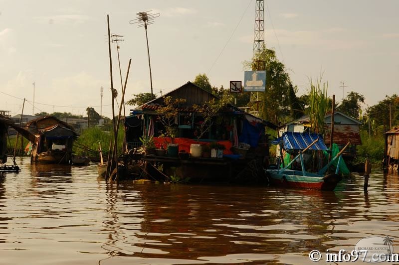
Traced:
POLYGON ((215 100, 213 98, 201 106, 196 104, 193 105, 194 111, 200 114, 203 118, 203 122, 199 126, 199 133, 197 135, 198 140, 200 140, 204 133, 209 132, 214 123, 213 118, 218 116, 220 111, 229 103, 231 103, 231 96, 223 94, 220 100, 215 100))

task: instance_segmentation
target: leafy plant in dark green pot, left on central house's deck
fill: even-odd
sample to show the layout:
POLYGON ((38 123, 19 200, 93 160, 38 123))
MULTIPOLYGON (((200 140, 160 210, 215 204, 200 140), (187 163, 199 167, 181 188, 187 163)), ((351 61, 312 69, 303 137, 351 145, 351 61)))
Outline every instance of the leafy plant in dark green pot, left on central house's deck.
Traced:
POLYGON ((177 157, 179 145, 175 144, 175 138, 179 131, 176 120, 179 115, 179 105, 185 103, 185 99, 172 99, 171 96, 164 98, 164 105, 157 109, 158 120, 165 127, 165 135, 171 138, 172 143, 168 144, 168 156, 177 157))

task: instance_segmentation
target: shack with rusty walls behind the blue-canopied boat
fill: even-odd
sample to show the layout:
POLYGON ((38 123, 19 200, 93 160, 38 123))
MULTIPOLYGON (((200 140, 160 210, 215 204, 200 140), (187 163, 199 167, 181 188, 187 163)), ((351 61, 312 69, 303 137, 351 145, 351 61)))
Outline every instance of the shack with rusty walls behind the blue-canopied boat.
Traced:
MULTIPOLYGON (((330 133, 331 133, 331 112, 325 116, 325 135, 324 141, 327 145, 330 144, 330 133)), ((351 144, 343 152, 342 156, 345 161, 349 163, 356 156, 356 146, 362 144, 360 138, 360 125, 362 123, 354 118, 351 118, 341 112, 334 113, 334 135, 333 143, 338 144, 339 149, 342 149, 350 140, 351 144)), ((282 135, 284 132, 296 132, 303 133, 309 132, 309 116, 303 116, 297 120, 286 123, 279 128, 279 133, 282 135)), ((279 153, 279 152, 277 152, 279 153)))

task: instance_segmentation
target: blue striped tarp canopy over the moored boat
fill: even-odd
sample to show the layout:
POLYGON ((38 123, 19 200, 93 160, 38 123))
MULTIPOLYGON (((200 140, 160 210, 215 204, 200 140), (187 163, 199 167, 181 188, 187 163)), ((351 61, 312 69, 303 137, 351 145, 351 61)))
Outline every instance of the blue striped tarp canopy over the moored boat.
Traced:
POLYGON ((275 139, 271 143, 279 144, 283 143, 285 150, 303 150, 314 142, 317 137, 319 140, 313 144, 309 150, 328 150, 326 144, 323 141, 323 136, 317 133, 294 133, 285 132, 280 138, 275 139))

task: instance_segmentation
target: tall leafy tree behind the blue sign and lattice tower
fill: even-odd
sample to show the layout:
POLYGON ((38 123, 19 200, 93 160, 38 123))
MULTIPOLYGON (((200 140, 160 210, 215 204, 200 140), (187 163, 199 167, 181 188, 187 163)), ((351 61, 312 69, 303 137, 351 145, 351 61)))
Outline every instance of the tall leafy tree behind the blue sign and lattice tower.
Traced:
POLYGON ((290 116, 292 102, 291 80, 286 71, 285 65, 276 58, 274 50, 265 49, 258 57, 251 61, 243 62, 244 69, 247 70, 266 70, 266 89, 260 93, 261 100, 261 118, 268 121, 275 121, 276 118, 284 120, 290 116), (256 60, 265 60, 265 69, 255 69, 256 60))

